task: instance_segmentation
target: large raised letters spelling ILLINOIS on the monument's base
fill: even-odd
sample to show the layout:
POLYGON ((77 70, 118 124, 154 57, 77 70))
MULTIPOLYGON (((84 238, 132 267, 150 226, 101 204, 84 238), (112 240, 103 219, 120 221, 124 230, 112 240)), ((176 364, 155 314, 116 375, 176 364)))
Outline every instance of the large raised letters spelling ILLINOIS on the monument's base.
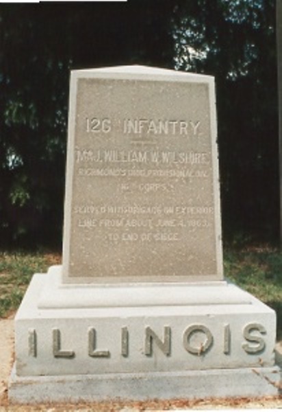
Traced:
MULTIPOLYGON (((247 354, 258 354, 264 351, 266 343, 262 335, 266 334, 266 329, 260 323, 248 323, 242 330, 242 350, 247 354)), ((73 348, 62 347, 62 332, 58 328, 52 330, 53 356, 55 358, 74 358, 75 350, 73 348)), ((129 356, 129 329, 124 326, 120 329, 120 354, 123 357, 129 356)), ((29 356, 36 358, 38 356, 38 336, 35 329, 28 330, 28 348, 29 356)), ((145 356, 153 356, 153 348, 157 347, 164 356, 170 356, 172 333, 170 326, 164 326, 163 336, 150 327, 144 329, 144 350, 145 356)), ((203 324, 189 325, 183 332, 182 345, 183 350, 194 356, 203 356, 214 344, 214 336, 203 324), (195 344, 194 338, 201 336, 195 344)), ((229 354, 231 351, 231 328, 226 323, 222 331, 222 352, 229 354)), ((88 328, 88 356, 92 358, 110 358, 111 353, 108 349, 97 347, 97 330, 88 328)))

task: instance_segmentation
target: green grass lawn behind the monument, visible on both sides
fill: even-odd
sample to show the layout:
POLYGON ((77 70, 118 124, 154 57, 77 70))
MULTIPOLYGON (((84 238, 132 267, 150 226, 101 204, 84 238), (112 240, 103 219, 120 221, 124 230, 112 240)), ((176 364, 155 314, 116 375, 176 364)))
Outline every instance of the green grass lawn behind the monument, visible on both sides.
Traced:
MULTIPOLYGON (((0 317, 18 308, 34 273, 60 261, 59 254, 0 252, 0 317)), ((282 253, 267 247, 225 249, 224 266, 225 277, 277 311, 282 339, 282 253)))

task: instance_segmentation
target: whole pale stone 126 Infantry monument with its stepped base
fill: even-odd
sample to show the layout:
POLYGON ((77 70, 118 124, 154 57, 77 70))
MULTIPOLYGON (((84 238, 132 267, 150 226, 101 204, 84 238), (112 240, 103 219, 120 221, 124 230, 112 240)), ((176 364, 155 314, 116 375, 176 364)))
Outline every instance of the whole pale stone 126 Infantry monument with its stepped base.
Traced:
POLYGON ((73 71, 62 266, 15 320, 12 402, 277 394, 273 310, 222 272, 214 78, 73 71))

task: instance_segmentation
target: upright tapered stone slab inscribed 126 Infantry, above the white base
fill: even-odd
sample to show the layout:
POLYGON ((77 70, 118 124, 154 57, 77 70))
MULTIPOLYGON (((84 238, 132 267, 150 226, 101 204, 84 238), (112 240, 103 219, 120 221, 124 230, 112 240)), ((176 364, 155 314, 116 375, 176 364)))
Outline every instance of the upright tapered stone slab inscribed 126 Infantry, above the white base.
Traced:
POLYGON ((222 279, 214 78, 74 71, 64 282, 222 279))

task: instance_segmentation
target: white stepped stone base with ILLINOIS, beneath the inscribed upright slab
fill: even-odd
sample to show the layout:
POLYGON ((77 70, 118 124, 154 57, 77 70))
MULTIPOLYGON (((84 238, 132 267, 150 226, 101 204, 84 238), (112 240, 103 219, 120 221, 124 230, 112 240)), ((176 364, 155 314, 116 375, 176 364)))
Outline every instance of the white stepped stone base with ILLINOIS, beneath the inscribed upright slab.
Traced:
POLYGON ((61 271, 34 275, 16 314, 11 402, 278 394, 275 312, 237 286, 64 286, 61 271))

